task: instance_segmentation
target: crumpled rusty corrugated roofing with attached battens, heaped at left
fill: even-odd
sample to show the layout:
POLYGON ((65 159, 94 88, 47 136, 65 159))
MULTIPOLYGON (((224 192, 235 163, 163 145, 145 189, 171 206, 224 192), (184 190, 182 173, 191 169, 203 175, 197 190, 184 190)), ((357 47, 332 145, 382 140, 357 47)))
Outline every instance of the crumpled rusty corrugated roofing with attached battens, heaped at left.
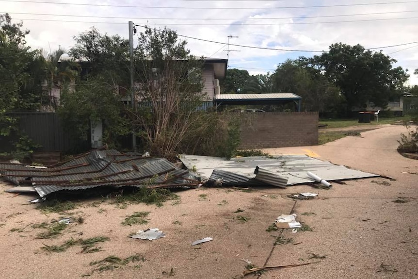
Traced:
POLYGON ((112 187, 197 187, 198 178, 161 158, 94 150, 49 169, 0 164, 0 174, 20 185, 31 185, 45 197, 57 191, 112 187))

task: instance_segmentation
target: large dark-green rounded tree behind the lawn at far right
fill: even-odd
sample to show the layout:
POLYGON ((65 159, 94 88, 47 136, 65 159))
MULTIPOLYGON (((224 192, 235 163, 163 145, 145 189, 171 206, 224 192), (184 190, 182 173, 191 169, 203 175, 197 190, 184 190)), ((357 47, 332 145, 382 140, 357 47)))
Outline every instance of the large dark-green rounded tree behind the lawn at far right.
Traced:
POLYGON ((393 67, 395 59, 360 45, 333 44, 328 52, 313 60, 327 79, 338 86, 348 110, 367 102, 385 107, 390 99, 399 97, 409 77, 402 67, 393 67))

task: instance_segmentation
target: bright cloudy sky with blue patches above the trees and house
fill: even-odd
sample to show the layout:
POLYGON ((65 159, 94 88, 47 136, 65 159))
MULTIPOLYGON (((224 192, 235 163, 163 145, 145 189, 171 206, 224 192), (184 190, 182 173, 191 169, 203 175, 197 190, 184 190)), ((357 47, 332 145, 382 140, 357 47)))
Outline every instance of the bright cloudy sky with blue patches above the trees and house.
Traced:
MULTIPOLYGON (((118 33, 128 38, 129 20, 153 28, 167 26, 180 35, 225 44, 227 36, 233 35, 238 38, 231 38, 231 44, 276 49, 322 51, 337 42, 380 48, 418 41, 417 0, 36 1, 0 0, 0 13, 8 12, 12 18, 22 19, 24 27, 31 31, 27 41, 32 48, 47 50, 57 49, 60 45, 64 49, 71 48, 74 44, 73 36, 91 26, 102 33, 118 33), (353 5, 368 3, 374 4, 353 5)), ((138 28, 138 31, 143 31, 143 28, 138 28)), ((226 45, 194 39, 187 41, 188 48, 197 56, 227 57, 226 45)), ((288 58, 320 54, 235 46, 230 46, 230 49, 239 51, 229 53, 229 67, 247 69, 250 74, 272 72, 288 58)), ((418 84, 418 77, 413 75, 414 69, 418 68, 418 42, 382 50, 398 61, 397 66, 409 69, 410 84, 418 84)))

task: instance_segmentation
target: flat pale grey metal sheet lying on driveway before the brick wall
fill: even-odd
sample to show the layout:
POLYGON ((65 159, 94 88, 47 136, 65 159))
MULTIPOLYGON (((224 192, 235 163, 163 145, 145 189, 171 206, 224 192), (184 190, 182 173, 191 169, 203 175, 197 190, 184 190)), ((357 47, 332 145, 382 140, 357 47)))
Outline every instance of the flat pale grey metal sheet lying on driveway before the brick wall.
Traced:
POLYGON ((331 164, 330 162, 324 162, 305 155, 286 155, 273 158, 259 156, 241 157, 232 158, 230 160, 219 157, 184 154, 179 157, 187 168, 195 168, 203 179, 209 179, 215 169, 241 174, 247 178, 256 178, 254 170, 257 166, 288 179, 287 185, 314 182, 307 176, 307 171, 310 171, 327 181, 379 176, 377 174, 349 169, 342 165, 331 164))

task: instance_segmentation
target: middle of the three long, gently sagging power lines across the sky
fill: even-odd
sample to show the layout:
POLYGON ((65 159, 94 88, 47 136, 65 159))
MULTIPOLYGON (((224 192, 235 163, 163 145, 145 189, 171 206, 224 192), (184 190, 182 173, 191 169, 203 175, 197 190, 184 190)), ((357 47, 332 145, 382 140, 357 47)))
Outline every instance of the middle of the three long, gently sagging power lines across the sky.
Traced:
MULTIPOLYGON (((271 20, 271 19, 305 19, 305 18, 322 18, 322 17, 341 17, 341 16, 372 16, 372 15, 387 15, 387 14, 400 14, 400 13, 415 13, 418 10, 413 11, 399 11, 399 12, 383 12, 383 13, 367 13, 367 14, 349 14, 349 15, 335 15, 335 16, 289 16, 289 17, 250 17, 250 18, 219 18, 219 17, 211 17, 211 18, 181 18, 181 17, 130 17, 130 16, 80 16, 80 15, 59 15, 59 14, 37 14, 37 13, 14 13, 9 12, 9 14, 14 15, 31 15, 31 16, 68 16, 68 17, 89 17, 89 18, 113 18, 113 19, 166 19, 166 20, 271 20)), ((6 13, 6 12, 0 12, 6 13)))

